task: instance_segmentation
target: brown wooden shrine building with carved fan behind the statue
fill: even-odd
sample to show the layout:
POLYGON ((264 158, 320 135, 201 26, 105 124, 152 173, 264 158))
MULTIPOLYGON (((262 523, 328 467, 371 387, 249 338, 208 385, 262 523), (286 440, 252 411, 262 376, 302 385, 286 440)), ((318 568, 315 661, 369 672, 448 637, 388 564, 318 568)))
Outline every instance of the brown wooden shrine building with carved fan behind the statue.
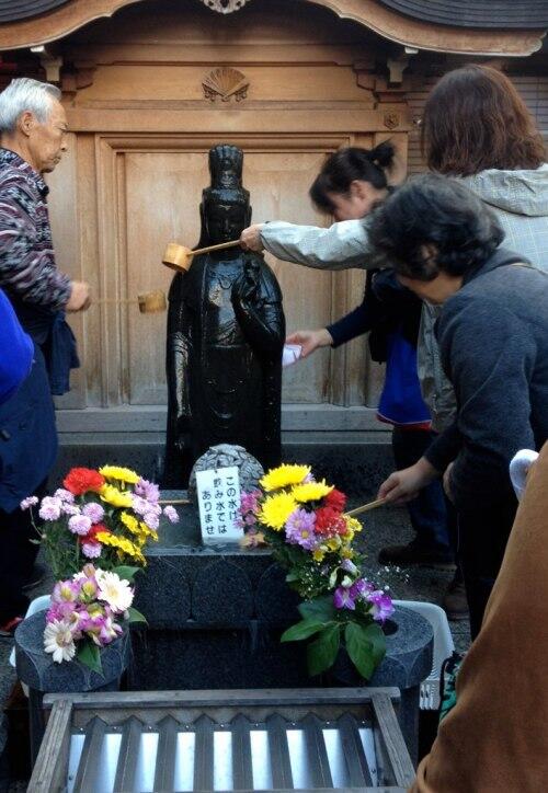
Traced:
MULTIPOLYGON (((391 138, 423 169, 418 122, 448 69, 491 62, 548 134, 548 0, 0 0, 0 88, 62 89, 70 148, 48 179, 58 265, 103 303, 71 318, 82 368, 58 402, 69 443, 162 439, 165 314, 123 302, 167 289, 172 239, 195 244, 205 152, 246 152, 253 219, 327 225, 307 191, 342 146, 391 138)), ((269 258, 288 330, 362 299, 363 273, 269 258)), ((372 438, 380 367, 364 340, 287 371, 284 430, 372 438)))

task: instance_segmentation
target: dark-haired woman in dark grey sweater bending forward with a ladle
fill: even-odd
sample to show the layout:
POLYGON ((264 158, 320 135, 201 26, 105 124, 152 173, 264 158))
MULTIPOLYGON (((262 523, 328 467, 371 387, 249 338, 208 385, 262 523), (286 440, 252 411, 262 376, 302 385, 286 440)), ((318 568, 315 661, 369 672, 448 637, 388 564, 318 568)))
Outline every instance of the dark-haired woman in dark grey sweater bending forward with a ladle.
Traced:
POLYGON ((407 501, 445 472, 472 637, 517 506, 510 461, 548 440, 548 274, 499 248, 502 238, 479 198, 435 175, 401 187, 370 227, 372 244, 401 284, 443 307, 437 341, 457 398, 455 424, 379 496, 407 501))

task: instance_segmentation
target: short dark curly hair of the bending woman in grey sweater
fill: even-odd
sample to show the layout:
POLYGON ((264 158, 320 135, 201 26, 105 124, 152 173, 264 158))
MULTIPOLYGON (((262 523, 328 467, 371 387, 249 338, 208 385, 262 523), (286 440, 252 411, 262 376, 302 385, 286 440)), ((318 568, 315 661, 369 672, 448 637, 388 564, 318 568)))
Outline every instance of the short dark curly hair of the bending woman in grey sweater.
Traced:
POLYGON ((379 207, 369 227, 373 246, 398 275, 433 280, 461 276, 486 262, 504 233, 467 187, 438 174, 410 180, 379 207), (424 255, 434 245, 435 262, 424 255))

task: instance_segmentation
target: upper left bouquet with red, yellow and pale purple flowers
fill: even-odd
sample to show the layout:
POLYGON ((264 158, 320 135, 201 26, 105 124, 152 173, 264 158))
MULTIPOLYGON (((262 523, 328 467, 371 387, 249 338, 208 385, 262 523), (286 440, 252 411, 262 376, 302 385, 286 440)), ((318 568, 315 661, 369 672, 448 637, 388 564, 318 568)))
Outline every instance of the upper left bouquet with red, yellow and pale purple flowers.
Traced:
MULTIPOLYGON (((158 485, 116 466, 73 468, 62 485, 53 496, 21 503, 23 509, 38 508, 42 524, 34 526, 57 581, 75 575, 89 560, 100 560, 104 571, 146 565, 144 548, 158 540, 162 514, 158 485)), ((179 520, 172 506, 163 514, 179 520)))

